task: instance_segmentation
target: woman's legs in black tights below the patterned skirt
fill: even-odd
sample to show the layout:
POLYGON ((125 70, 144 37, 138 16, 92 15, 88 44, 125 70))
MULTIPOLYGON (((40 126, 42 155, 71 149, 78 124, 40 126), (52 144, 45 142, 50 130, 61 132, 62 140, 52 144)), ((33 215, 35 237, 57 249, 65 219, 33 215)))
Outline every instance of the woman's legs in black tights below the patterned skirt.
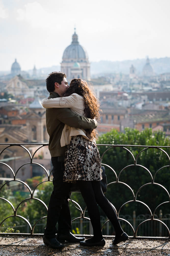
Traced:
POLYGON ((77 183, 79 184, 81 194, 87 205, 88 214, 93 227, 94 236, 93 239, 88 239, 89 242, 100 241, 102 239, 100 213, 97 204, 112 223, 115 230, 115 238, 119 237, 123 233, 123 230, 112 204, 102 192, 100 181, 77 180, 77 183))

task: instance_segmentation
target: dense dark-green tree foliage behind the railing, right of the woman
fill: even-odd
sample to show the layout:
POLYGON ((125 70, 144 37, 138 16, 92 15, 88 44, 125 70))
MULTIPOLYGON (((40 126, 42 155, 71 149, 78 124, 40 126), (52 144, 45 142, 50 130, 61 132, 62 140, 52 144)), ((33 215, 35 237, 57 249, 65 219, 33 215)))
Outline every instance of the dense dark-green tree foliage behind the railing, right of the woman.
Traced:
MULTIPOLYGON (((146 129, 139 132, 135 129, 125 129, 125 133, 112 130, 106 134, 99 137, 98 144, 111 144, 111 145, 146 145, 146 146, 169 146, 170 141, 165 138, 165 134, 162 131, 152 133, 152 129, 146 129)), ((110 146, 98 146, 100 155, 110 148, 110 146)), ((128 150, 132 152, 135 159, 137 155, 147 147, 132 147, 126 146, 128 150)), ((167 153, 169 153, 168 148, 162 148, 167 153)), ((121 170, 129 165, 134 165, 133 156, 125 150, 123 147, 113 147, 108 150, 103 158, 102 163, 111 166, 117 176, 120 174, 121 170)), ((151 183, 152 177, 155 172, 161 167, 169 165, 169 159, 167 155, 155 148, 147 149, 139 154, 137 159, 137 164, 141 166, 129 166, 125 168, 120 174, 119 181, 128 184, 134 191, 137 190, 144 184, 151 183), (151 173, 143 168, 145 166, 151 173)), ((170 172, 169 167, 160 170, 156 177, 155 182, 160 183, 166 189, 169 189, 170 182, 170 172)), ((108 178, 108 183, 115 182, 116 177, 109 168, 106 167, 106 174, 108 178)), ((132 192, 124 184, 113 183, 108 186, 108 191, 106 197, 112 202, 117 210, 127 201, 133 200, 132 192)), ((168 196, 166 191, 158 185, 147 185, 142 188, 138 195, 137 200, 145 202, 153 212, 153 210, 164 201, 168 201, 168 196)), ((148 209, 140 203, 131 202, 126 204, 120 214, 129 214, 132 216, 133 210, 136 210, 136 214, 149 214, 148 209)))

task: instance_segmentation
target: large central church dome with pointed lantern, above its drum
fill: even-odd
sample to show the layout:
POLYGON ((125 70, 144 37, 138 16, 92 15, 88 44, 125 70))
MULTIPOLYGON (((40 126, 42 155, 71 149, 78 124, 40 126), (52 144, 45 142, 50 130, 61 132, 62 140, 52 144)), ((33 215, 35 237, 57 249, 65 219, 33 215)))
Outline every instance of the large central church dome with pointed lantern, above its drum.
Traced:
POLYGON ((74 32, 72 36, 72 43, 69 45, 63 53, 63 62, 64 61, 88 61, 88 55, 85 49, 79 44, 78 36, 74 32))

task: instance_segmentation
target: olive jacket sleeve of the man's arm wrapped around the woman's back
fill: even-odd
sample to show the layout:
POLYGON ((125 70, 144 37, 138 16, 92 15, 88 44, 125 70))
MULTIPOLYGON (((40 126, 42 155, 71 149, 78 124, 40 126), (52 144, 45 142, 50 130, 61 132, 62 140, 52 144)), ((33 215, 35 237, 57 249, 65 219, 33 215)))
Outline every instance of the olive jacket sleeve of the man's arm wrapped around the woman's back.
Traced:
POLYGON ((95 119, 79 116, 68 108, 60 108, 55 111, 56 118, 70 127, 80 129, 95 129, 98 125, 95 119))

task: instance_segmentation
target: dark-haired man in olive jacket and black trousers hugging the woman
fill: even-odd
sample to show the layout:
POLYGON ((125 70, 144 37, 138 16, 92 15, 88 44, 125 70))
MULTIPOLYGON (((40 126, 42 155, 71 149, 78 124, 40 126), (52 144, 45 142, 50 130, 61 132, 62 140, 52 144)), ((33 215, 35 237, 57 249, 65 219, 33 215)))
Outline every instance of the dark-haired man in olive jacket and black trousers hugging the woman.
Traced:
MULTIPOLYGON (((49 98, 61 97, 66 92, 68 82, 66 74, 52 72, 46 79, 49 98)), ((61 147, 60 138, 64 125, 80 129, 94 129, 97 127, 96 120, 85 118, 73 113, 68 108, 46 109, 46 126, 49 134, 49 151, 53 164, 53 192, 50 197, 47 224, 43 236, 45 244, 52 248, 61 249, 64 247, 60 242, 80 242, 85 238, 77 238, 72 233, 71 215, 69 209, 70 183, 63 182, 64 154, 66 147, 61 147), (58 230, 56 223, 58 222, 58 230), (57 236, 56 236, 57 232, 57 236)))

